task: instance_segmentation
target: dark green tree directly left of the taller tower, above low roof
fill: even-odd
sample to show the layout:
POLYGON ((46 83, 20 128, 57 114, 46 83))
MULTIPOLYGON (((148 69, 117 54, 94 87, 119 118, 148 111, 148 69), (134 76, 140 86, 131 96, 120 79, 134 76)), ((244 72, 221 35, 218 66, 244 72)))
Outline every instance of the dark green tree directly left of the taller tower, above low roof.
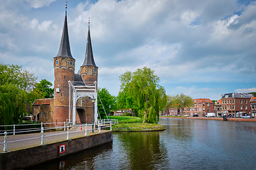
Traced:
POLYGON ((43 96, 43 98, 53 98, 54 89, 50 88, 50 86, 53 86, 50 81, 41 79, 39 83, 36 83, 36 87, 33 90, 38 91, 43 96))

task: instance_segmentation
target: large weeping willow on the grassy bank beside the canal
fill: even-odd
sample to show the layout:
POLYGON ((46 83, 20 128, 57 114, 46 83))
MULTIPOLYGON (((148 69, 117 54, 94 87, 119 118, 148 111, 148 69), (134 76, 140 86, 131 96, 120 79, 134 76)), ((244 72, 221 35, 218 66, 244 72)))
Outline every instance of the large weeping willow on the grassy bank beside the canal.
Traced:
POLYGON ((134 100, 134 108, 144 123, 158 123, 159 111, 166 106, 167 96, 159 77, 147 67, 136 72, 125 72, 120 77, 120 91, 125 91, 134 100))

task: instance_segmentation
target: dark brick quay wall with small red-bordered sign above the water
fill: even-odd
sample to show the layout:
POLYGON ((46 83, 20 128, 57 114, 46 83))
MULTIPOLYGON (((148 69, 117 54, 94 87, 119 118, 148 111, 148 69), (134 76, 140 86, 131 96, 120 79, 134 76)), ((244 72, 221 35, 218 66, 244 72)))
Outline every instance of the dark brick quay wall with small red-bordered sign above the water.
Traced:
POLYGON ((22 169, 112 142, 112 131, 0 154, 0 170, 22 169), (63 148, 63 145, 64 148, 63 148))

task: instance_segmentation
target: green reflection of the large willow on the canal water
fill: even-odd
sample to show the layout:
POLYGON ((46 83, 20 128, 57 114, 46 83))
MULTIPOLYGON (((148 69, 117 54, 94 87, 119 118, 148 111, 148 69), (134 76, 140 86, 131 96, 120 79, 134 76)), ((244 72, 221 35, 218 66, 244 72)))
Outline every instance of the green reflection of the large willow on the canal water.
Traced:
MULTIPOLYGON (((158 169, 166 164, 167 150, 160 141, 161 132, 118 132, 114 145, 126 154, 126 164, 118 169, 158 169)), ((166 165, 169 166, 169 165, 166 165)))

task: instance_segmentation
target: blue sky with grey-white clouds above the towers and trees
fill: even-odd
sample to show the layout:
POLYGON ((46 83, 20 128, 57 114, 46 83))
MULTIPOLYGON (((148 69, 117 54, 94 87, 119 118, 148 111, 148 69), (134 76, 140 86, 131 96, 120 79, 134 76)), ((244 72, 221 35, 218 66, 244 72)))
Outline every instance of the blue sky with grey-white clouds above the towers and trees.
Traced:
MULTIPOLYGON (((63 0, 1 0, 0 62, 53 83, 63 0)), ((218 100, 256 91, 256 1, 68 1, 75 72, 85 57, 88 18, 98 86, 117 96, 119 76, 154 69, 166 94, 218 100)))

